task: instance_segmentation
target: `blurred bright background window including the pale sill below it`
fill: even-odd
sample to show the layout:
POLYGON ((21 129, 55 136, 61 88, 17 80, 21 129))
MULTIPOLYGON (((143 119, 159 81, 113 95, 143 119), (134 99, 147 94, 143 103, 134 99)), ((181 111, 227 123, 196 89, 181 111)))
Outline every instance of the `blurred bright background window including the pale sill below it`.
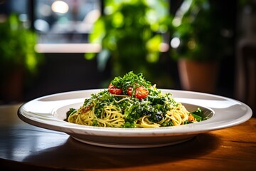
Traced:
POLYGON ((101 6, 102 0, 3 0, 0 14, 16 13, 24 26, 34 28, 38 52, 86 53, 101 50, 88 41, 101 6))

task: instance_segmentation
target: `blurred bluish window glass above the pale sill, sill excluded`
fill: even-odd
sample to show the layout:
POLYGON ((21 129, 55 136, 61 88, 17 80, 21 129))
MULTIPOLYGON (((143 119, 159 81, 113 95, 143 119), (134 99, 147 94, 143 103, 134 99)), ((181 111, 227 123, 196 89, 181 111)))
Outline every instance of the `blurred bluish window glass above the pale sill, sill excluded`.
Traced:
POLYGON ((100 0, 34 0, 38 43, 87 43, 100 17, 100 0))

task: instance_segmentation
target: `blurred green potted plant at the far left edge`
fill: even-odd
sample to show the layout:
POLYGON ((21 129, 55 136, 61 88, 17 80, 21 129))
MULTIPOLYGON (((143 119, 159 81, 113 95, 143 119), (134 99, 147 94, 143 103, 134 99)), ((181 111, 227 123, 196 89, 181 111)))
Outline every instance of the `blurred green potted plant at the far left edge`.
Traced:
POLYGON ((22 100, 24 78, 36 73, 43 60, 36 53, 36 33, 23 25, 16 14, 0 21, 0 97, 22 100))

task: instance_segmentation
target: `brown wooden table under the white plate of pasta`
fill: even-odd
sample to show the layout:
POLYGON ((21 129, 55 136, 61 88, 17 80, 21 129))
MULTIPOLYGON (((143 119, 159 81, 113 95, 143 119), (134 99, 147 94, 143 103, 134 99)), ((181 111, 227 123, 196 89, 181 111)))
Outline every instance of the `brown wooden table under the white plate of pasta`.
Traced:
POLYGON ((19 106, 0 106, 1 170, 256 170, 256 118, 178 145, 117 149, 28 125, 19 106))

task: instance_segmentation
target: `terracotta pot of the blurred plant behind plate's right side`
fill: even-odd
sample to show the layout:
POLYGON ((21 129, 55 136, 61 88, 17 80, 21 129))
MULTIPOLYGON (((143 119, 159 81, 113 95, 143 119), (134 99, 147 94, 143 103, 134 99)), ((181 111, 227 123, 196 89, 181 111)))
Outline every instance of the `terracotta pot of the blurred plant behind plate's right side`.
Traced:
POLYGON ((215 93, 218 79, 218 62, 197 62, 181 59, 178 73, 183 90, 215 93))

